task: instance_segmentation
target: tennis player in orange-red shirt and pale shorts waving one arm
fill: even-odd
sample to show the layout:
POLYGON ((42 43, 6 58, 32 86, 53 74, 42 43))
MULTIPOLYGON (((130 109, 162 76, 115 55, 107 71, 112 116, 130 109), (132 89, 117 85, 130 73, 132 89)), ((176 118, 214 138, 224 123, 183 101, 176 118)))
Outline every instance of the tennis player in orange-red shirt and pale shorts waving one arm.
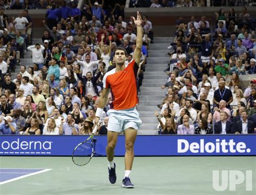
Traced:
POLYGON ((138 103, 137 96, 137 72, 139 69, 140 55, 142 49, 142 17, 137 12, 137 19, 133 17, 134 24, 137 26, 136 48, 133 59, 125 65, 126 50, 117 47, 113 53, 116 68, 107 72, 103 78, 103 93, 99 98, 96 111, 96 124, 103 112, 103 108, 108 101, 108 95, 112 93, 112 108, 107 112, 109 124, 107 126, 107 161, 109 161, 109 180, 111 184, 116 183, 116 163, 114 159, 114 147, 116 147, 118 133, 124 131, 125 134, 125 175, 123 187, 133 188, 130 180, 132 163, 134 158, 133 145, 136 140, 137 131, 142 121, 135 106, 138 103))

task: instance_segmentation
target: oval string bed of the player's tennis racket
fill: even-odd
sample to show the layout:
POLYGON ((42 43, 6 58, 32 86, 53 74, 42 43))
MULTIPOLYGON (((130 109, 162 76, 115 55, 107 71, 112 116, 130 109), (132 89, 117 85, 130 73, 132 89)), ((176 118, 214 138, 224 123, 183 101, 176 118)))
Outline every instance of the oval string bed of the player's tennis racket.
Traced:
POLYGON ((89 142, 84 142, 77 146, 73 151, 73 162, 79 166, 86 165, 89 163, 92 157, 93 147, 89 142))

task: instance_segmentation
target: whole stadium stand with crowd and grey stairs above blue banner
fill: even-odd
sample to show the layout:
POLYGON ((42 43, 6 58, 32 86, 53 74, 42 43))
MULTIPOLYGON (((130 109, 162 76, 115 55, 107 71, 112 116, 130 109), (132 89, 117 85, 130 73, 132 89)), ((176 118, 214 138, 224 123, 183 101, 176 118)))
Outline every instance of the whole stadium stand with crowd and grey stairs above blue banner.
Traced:
MULTIPOLYGON (((158 9, 207 6, 207 2, 130 1, 129 5, 158 9)), ((113 51, 123 46, 127 63, 132 60, 136 27, 125 19, 125 3, 106 6, 106 1, 89 0, 79 7, 76 2, 14 1, 9 7, 2 5, 0 133, 92 133, 103 76, 115 67, 113 51), (45 18, 39 21, 44 31, 39 32, 40 38, 32 39, 33 26, 38 24, 33 23, 30 10, 45 8, 45 18), (4 9, 15 9, 15 17, 6 15, 4 9)), ((212 1, 210 5, 254 4, 212 1)), ((211 17, 214 19, 177 18, 171 36, 156 37, 152 18, 143 15, 141 68, 137 73, 138 111, 143 121, 139 134, 254 133, 254 16, 240 7, 240 11, 211 12, 211 17), (245 77, 249 80, 246 86, 241 84, 245 77), (254 127, 240 127, 239 121, 247 119, 254 127), (224 124, 229 128, 226 131, 224 124)), ((100 118, 99 135, 106 134, 111 107, 110 95, 100 118)))

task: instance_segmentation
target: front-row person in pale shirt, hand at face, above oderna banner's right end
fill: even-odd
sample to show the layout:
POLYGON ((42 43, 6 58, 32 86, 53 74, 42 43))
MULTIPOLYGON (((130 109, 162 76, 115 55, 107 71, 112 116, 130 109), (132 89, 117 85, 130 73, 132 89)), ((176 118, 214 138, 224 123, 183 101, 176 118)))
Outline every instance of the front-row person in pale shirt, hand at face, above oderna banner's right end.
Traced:
POLYGON ((60 135, 77 135, 78 134, 78 124, 75 123, 74 115, 68 114, 66 121, 62 120, 60 125, 60 135))

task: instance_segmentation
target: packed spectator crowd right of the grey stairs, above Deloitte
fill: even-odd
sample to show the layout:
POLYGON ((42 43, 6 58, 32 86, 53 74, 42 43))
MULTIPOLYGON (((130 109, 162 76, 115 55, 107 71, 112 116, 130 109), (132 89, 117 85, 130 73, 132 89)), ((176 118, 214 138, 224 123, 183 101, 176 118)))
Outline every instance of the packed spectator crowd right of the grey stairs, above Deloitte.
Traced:
MULTIPOLYGON (((155 115, 160 134, 251 134, 256 130, 256 39, 246 8, 177 21, 155 115), (214 29, 213 31, 210 29, 214 29), (249 76, 247 88, 240 78, 249 76)), ((248 78, 246 78, 248 80, 248 78)))

